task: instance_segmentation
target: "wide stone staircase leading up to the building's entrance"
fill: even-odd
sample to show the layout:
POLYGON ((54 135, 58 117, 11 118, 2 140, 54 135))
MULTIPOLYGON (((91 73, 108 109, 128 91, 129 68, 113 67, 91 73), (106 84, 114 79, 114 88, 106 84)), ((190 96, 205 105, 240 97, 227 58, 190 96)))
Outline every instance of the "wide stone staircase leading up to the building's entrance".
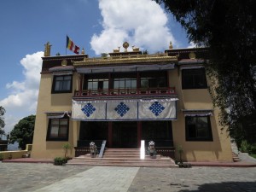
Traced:
POLYGON ((85 154, 68 160, 67 165, 177 167, 170 157, 160 155, 156 159, 146 156, 141 160, 139 148, 107 148, 102 158, 91 158, 90 154, 85 154))

